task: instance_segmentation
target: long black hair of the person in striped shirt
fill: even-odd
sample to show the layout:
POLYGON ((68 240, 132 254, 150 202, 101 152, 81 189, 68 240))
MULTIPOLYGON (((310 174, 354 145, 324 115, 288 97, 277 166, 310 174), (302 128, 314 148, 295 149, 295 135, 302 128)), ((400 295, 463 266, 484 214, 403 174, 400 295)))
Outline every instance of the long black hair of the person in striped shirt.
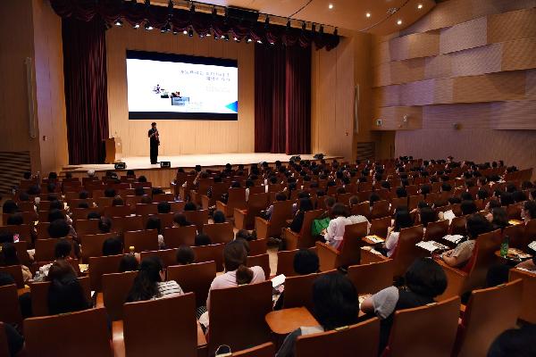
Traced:
POLYGON ((157 256, 144 258, 139 264, 138 275, 127 297, 127 303, 144 301, 159 297, 157 283, 162 281, 160 272, 163 271, 162 260, 157 256))

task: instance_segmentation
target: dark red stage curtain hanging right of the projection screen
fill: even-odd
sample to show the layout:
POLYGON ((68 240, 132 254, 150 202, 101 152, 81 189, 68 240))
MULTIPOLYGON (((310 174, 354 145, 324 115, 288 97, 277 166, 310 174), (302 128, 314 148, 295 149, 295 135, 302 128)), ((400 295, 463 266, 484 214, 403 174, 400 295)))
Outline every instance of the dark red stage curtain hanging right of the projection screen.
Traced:
POLYGON ((311 152, 311 49, 255 46, 255 152, 311 152))

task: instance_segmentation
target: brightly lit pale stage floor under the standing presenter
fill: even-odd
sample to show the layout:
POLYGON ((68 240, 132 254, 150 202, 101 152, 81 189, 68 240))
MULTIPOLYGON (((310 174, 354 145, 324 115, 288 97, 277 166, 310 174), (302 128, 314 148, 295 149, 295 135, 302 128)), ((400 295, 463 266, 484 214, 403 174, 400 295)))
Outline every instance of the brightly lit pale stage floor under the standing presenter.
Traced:
MULTIPOLYGON (((226 163, 231 165, 238 165, 243 163, 245 165, 255 162, 269 162, 276 161, 289 162, 292 155, 286 154, 270 154, 270 153, 230 153, 230 154, 185 154, 180 156, 158 156, 160 162, 171 162, 171 169, 194 168, 196 165, 204 167, 219 167, 224 166, 226 163)), ((304 160, 313 160, 313 155, 300 155, 304 160)), ((325 156, 324 159, 341 159, 341 156, 325 156)), ((122 162, 126 162, 128 170, 169 170, 161 169, 160 164, 151 165, 148 156, 132 156, 124 157, 122 162)), ((87 165, 69 165, 63 167, 63 171, 70 171, 73 173, 87 172, 88 170, 105 171, 113 170, 113 164, 87 164, 87 165)))

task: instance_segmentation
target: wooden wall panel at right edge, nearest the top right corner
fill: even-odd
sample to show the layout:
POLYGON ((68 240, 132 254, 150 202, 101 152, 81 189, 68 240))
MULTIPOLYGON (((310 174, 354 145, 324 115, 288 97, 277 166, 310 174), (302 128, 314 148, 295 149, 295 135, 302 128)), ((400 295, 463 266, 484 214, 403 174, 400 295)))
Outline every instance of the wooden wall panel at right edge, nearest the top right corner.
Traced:
POLYGON ((536 37, 536 8, 498 13, 488 18, 488 42, 536 37))

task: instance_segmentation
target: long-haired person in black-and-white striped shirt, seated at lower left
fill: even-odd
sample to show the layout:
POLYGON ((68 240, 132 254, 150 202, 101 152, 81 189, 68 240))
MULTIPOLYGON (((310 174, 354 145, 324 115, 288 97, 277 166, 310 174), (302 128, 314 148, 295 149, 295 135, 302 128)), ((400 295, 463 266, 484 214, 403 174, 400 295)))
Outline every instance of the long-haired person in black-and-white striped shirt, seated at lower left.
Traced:
POLYGON ((138 275, 127 296, 127 303, 183 295, 175 280, 165 281, 162 260, 150 256, 141 261, 138 275))

